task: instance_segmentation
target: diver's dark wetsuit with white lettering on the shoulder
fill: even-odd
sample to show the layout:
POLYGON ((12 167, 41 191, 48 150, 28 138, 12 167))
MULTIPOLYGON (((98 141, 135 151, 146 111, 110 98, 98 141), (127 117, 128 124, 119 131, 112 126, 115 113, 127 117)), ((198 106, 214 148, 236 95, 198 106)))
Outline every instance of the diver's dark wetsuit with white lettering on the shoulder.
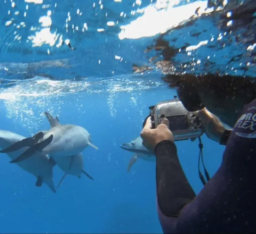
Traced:
POLYGON ((196 196, 177 148, 155 148, 157 210, 164 233, 256 233, 256 99, 228 138, 218 171, 196 196))

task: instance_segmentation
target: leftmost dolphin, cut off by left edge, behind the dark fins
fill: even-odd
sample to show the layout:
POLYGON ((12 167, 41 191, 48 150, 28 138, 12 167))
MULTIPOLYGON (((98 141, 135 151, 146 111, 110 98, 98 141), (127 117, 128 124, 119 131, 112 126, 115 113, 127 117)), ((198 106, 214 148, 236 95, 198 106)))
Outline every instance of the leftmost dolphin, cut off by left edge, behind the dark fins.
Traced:
MULTIPOLYGON (((22 140, 26 139, 25 137, 18 135, 17 133, 0 130, 0 148, 9 147, 17 142, 22 142, 22 140)), ((14 160, 20 154, 25 152, 28 147, 23 147, 18 149, 15 152, 9 152, 7 155, 14 160)), ((43 183, 46 183, 49 188, 56 193, 54 183, 53 183, 53 166, 55 163, 47 157, 45 154, 37 152, 35 157, 28 158, 28 160, 23 162, 18 162, 18 166, 20 166, 23 170, 33 174, 37 181, 35 185, 37 187, 41 187, 43 183)))

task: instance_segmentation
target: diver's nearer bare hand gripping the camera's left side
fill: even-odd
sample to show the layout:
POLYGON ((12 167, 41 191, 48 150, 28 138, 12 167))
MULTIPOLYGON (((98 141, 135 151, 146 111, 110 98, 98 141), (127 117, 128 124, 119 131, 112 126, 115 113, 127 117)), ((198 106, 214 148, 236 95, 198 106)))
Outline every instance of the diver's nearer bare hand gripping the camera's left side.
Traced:
POLYGON ((151 153, 154 153, 155 147, 159 142, 163 140, 174 141, 172 132, 169 129, 169 120, 167 119, 163 119, 156 129, 152 129, 151 117, 149 117, 140 136, 142 138, 142 144, 151 153))

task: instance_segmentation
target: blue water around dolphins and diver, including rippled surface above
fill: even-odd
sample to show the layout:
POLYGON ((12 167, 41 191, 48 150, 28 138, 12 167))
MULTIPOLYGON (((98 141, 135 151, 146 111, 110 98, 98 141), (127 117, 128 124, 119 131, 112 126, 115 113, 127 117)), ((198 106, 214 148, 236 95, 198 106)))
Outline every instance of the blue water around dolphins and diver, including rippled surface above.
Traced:
MULTIPOLYGON (((0 128, 31 136, 50 128, 44 111, 58 115, 63 124, 84 127, 99 148, 97 151, 87 147, 82 152, 84 169, 94 180, 84 175, 81 179, 68 175, 54 194, 45 183, 36 187, 33 175, 9 163, 6 154, 0 155, 0 232, 162 233, 156 213, 155 162, 139 159, 127 173, 133 153, 119 147, 139 136, 149 106, 176 94, 162 81, 163 71, 148 62, 157 53, 144 53, 159 32, 139 38, 121 39, 119 35, 121 24, 129 24, 143 15, 131 14, 132 10, 154 6, 156 1, 142 1, 141 5, 130 0, 41 2, 0 2, 0 128), (49 27, 42 26, 39 18, 49 11, 51 23, 49 27), (126 17, 121 16, 122 12, 126 17), (109 21, 114 21, 115 26, 107 26, 109 21), (29 38, 44 28, 59 35, 58 39, 53 44, 44 40, 41 46, 35 46, 29 38), (102 28, 105 31, 97 31, 102 28), (61 36, 63 40, 69 39, 75 49, 65 43, 57 47, 61 36), (133 63, 153 66, 153 70, 133 73, 133 63)), ((190 1, 193 2, 196 1, 190 1)), ((186 2, 180 1, 178 6, 186 6, 186 2)), ((194 20, 193 25, 182 21, 178 22, 182 27, 166 30, 165 39, 176 48, 204 40, 212 46, 198 47, 190 55, 181 51, 175 55, 174 66, 181 69, 178 65, 187 62, 189 69, 183 67, 183 71, 195 74, 211 70, 255 75, 253 63, 248 64, 252 56, 243 56, 249 53, 247 47, 253 46, 252 41, 241 44, 231 40, 242 35, 244 26, 225 35, 225 30, 216 23, 217 18, 218 14, 204 15, 194 20), (196 31, 201 35, 191 37, 196 31), (217 40, 219 34, 223 38, 217 40), (172 39, 177 37, 174 43, 172 39), (242 55, 241 59, 228 64, 237 54, 242 55), (208 60, 212 62, 210 67, 206 64, 208 60), (243 66, 247 70, 241 69, 243 66)), ((170 18, 170 22, 174 19, 170 18)), ((221 163, 224 147, 205 136, 202 140, 205 165, 212 176, 221 163)), ((197 172, 198 142, 182 141, 177 147, 186 176, 198 193, 202 189, 197 172)), ((57 186, 63 172, 54 166, 53 173, 57 186)))

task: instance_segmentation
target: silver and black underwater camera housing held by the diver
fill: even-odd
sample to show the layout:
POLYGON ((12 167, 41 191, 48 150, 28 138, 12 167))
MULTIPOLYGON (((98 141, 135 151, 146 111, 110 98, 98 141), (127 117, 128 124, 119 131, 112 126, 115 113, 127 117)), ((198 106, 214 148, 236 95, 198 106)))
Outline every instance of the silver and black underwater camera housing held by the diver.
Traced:
POLYGON ((163 117, 169 120, 174 140, 187 140, 203 135, 202 121, 196 112, 189 112, 180 99, 164 101, 150 106, 152 127, 156 128, 163 117))

